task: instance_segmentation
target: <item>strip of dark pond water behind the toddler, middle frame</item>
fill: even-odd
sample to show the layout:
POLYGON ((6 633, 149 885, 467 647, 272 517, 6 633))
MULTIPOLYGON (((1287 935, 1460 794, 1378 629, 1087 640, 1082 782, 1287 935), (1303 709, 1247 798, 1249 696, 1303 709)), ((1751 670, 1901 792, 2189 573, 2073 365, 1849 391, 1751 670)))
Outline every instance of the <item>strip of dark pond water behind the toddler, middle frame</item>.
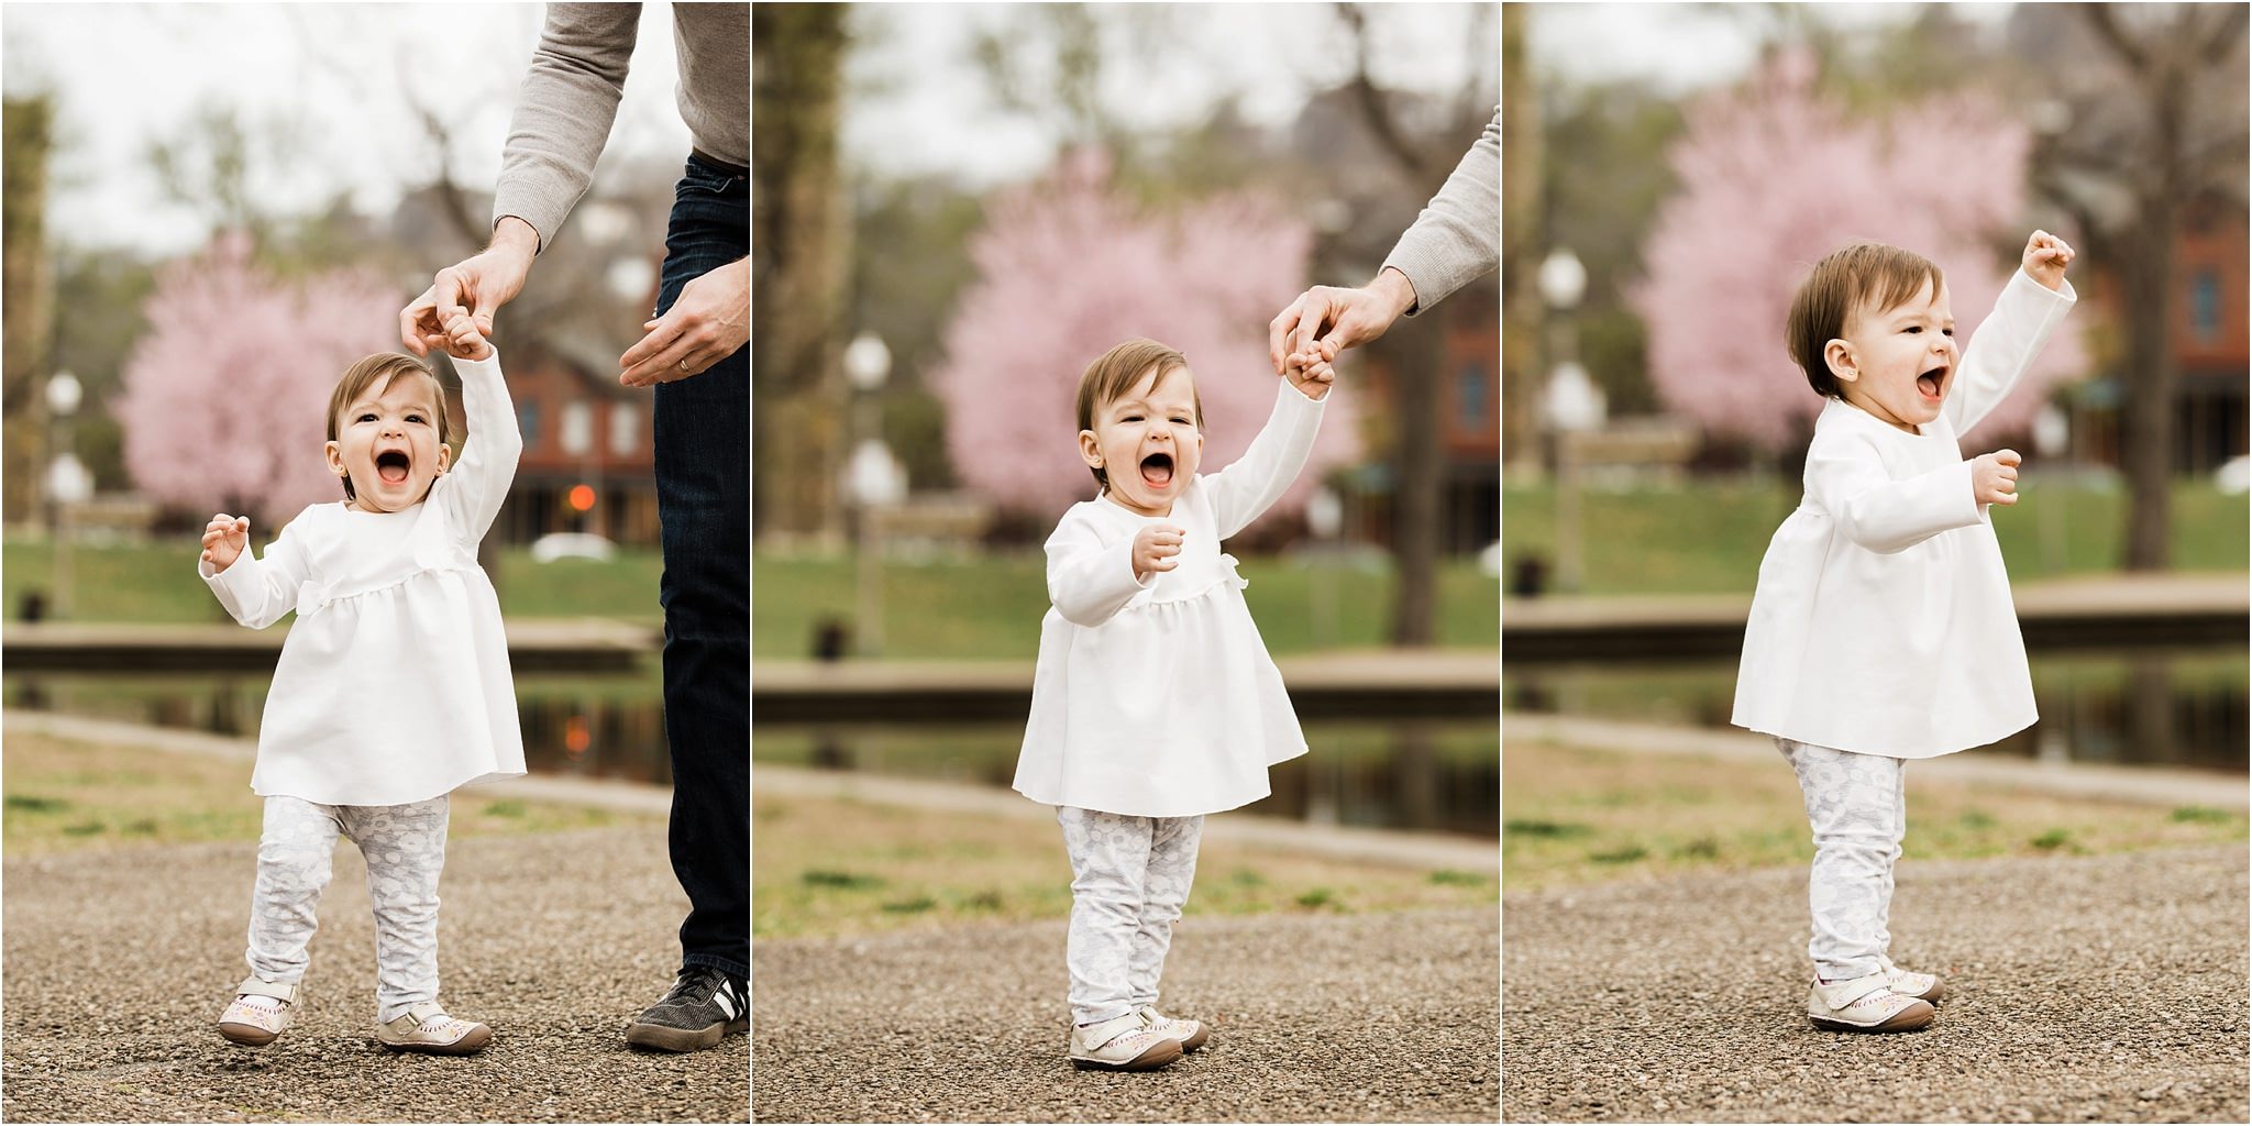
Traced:
MULTIPOLYGON (((761 725, 761 763, 867 770, 1007 788, 1022 725, 761 725)), ((1311 824, 1500 833, 1500 734, 1493 723, 1308 723, 1302 754, 1268 770, 1248 813, 1311 824)))

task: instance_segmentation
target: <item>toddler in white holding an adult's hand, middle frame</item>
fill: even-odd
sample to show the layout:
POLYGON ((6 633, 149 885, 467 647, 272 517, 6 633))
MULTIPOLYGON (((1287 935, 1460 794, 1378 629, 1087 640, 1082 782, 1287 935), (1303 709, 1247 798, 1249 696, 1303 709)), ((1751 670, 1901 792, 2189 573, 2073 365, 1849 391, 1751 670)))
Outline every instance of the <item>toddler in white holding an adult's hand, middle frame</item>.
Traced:
POLYGON ((1286 367, 1275 412, 1236 464, 1200 475, 1196 374, 1128 340, 1079 376, 1079 457, 1097 495, 1047 538, 1047 595, 1016 788, 1056 806, 1072 858, 1072 1036, 1079 1067, 1153 1070, 1209 1031, 1155 1009, 1189 901, 1205 813, 1268 795, 1306 752, 1221 540, 1297 477, 1322 423, 1335 347, 1286 367))

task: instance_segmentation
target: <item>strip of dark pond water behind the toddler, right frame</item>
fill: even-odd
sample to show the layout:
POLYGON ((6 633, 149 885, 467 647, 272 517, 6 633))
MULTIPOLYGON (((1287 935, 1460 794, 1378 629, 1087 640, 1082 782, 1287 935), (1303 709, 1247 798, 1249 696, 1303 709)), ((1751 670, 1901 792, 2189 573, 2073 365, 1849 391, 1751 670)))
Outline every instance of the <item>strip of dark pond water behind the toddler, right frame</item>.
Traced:
MULTIPOLYGON (((2243 646, 2034 653, 2040 721, 1991 752, 2085 763, 2245 770, 2252 745, 2243 646)), ((1513 712, 1727 727, 1736 662, 1502 667, 1513 712)))

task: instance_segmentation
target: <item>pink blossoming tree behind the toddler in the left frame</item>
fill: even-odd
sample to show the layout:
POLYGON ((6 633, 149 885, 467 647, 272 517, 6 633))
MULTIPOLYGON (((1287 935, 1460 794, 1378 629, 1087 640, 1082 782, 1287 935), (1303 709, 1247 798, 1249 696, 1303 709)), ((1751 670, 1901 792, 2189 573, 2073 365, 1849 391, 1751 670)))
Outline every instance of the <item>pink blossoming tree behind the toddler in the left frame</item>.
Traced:
POLYGON ((248 513, 254 545, 345 498, 322 459, 329 392, 354 360, 396 351, 390 286, 365 272, 288 286, 252 266, 245 234, 223 234, 160 272, 146 315, 113 405, 142 493, 248 513))

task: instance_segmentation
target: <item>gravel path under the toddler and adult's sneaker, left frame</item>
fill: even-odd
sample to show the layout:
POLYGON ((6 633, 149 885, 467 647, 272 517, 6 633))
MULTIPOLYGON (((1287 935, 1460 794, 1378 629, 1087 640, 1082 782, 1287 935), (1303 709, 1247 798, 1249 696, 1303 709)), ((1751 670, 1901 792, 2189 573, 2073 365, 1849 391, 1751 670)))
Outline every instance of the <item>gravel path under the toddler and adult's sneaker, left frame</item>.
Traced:
POLYGON ((257 844, 5 863, 7 1121, 743 1121, 748 1038, 626 1047, 671 984, 687 896, 664 826, 448 844, 441 1000, 480 1056, 374 1043, 367 869, 340 844, 309 998, 270 1047, 212 1031, 245 973, 257 844))

